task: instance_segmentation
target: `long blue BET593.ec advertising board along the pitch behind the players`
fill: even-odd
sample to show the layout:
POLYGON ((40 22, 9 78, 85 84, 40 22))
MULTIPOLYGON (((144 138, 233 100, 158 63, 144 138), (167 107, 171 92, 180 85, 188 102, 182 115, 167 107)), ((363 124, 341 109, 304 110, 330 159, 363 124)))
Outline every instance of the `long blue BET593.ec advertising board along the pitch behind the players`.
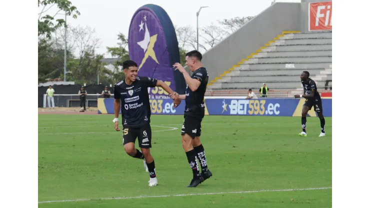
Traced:
MULTIPOLYGON (((205 115, 251 115, 251 116, 301 116, 305 99, 244 99, 244 98, 205 98, 205 115)), ((98 113, 114 113, 113 98, 98 98, 98 113)), ((173 100, 149 99, 152 114, 182 115, 185 101, 173 107, 173 100)), ((308 116, 317 116, 312 106, 308 116)), ((324 116, 331 116, 331 99, 322 99, 324 116)), ((119 112, 120 113, 120 112, 119 112)))

